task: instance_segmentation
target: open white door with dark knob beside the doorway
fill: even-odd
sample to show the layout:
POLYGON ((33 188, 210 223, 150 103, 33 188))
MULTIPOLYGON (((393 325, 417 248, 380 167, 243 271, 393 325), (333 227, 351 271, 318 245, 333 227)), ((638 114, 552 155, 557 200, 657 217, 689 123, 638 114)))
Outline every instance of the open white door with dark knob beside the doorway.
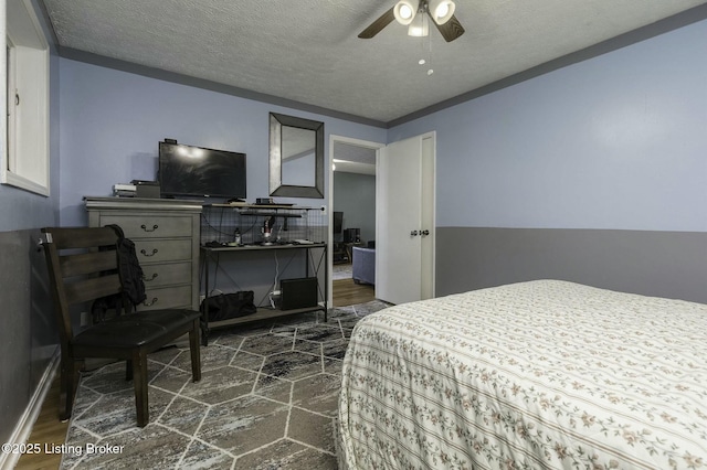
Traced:
POLYGON ((382 149, 376 179, 376 297, 434 297, 434 132, 382 149))

